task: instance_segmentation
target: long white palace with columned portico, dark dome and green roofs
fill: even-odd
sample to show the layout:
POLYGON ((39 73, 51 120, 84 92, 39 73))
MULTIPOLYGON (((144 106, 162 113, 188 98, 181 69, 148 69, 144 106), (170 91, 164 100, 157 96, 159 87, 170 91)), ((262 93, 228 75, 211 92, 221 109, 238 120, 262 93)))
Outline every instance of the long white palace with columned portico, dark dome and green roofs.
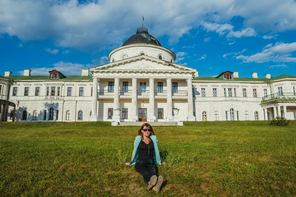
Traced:
POLYGON ((109 54, 110 63, 65 76, 0 75, 0 121, 179 122, 296 120, 296 76, 199 77, 175 64, 146 28, 109 54))

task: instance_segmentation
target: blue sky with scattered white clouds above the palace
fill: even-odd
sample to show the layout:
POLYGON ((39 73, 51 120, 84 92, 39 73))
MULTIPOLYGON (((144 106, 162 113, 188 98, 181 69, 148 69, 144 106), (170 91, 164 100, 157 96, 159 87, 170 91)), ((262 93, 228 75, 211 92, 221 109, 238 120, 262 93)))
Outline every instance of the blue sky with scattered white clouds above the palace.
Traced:
POLYGON ((0 74, 80 75, 142 26, 199 76, 296 75, 295 0, 0 0, 0 74), (144 6, 145 5, 145 6, 144 6))

